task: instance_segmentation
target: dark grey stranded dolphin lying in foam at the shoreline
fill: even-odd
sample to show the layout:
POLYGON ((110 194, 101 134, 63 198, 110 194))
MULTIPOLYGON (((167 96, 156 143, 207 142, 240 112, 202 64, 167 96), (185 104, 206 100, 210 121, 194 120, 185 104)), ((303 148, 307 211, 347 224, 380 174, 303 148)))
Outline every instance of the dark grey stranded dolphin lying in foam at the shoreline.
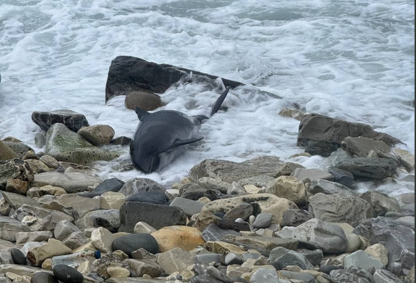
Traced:
MULTIPOLYGON (((211 116, 217 113, 230 86, 215 101, 211 116)), ((162 110, 149 113, 136 107, 139 126, 130 142, 133 164, 144 173, 151 173, 170 164, 185 152, 187 144, 201 141, 198 137, 205 116, 187 116, 179 111, 162 110)))

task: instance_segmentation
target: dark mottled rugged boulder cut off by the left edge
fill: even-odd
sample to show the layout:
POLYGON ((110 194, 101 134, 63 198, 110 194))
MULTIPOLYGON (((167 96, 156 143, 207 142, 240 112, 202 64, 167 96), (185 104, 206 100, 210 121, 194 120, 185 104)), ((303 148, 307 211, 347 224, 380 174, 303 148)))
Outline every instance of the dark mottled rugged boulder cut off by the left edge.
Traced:
POLYGON ((30 166, 20 159, 0 161, 0 189, 6 190, 9 179, 19 179, 26 182, 33 181, 33 171, 30 166))

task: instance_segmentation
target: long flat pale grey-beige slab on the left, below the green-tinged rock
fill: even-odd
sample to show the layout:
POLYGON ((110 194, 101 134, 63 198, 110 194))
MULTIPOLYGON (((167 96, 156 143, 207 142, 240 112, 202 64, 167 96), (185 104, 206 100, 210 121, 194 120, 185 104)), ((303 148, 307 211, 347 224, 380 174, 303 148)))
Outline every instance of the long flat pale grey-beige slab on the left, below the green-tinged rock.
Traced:
POLYGON ((33 186, 50 185, 65 189, 68 193, 88 190, 88 187, 94 184, 101 183, 101 179, 89 173, 59 173, 59 172, 45 172, 36 174, 33 186))

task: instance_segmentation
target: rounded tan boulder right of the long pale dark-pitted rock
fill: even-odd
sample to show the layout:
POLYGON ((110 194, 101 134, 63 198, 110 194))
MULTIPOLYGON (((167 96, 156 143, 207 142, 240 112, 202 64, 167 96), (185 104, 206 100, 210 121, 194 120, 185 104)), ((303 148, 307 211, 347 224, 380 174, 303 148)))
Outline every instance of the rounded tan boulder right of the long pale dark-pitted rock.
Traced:
POLYGON ((303 182, 291 176, 278 177, 273 182, 267 184, 264 192, 291 200, 298 206, 305 205, 307 201, 305 185, 303 182))

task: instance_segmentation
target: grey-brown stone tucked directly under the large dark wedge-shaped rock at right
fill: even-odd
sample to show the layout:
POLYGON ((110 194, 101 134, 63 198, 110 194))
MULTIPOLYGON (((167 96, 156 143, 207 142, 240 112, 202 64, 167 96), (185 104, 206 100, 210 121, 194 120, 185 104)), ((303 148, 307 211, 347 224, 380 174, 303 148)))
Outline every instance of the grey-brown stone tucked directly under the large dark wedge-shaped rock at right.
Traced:
POLYGON ((342 147, 346 148, 349 153, 357 157, 367 157, 371 150, 390 152, 390 146, 382 141, 374 141, 373 139, 365 137, 347 137, 341 143, 342 147))

